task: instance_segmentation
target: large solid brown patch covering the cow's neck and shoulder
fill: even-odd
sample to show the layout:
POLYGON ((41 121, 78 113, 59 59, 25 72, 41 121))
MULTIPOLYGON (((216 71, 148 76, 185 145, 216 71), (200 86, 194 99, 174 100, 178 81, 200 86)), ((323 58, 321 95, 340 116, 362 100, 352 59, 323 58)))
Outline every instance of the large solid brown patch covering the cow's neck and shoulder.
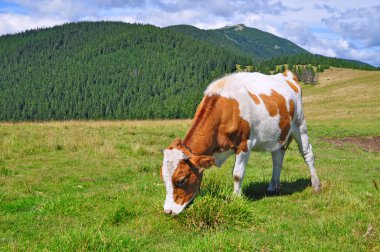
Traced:
POLYGON ((247 152, 249 123, 240 117, 239 103, 219 95, 205 96, 183 144, 195 155, 212 155, 233 148, 247 152))

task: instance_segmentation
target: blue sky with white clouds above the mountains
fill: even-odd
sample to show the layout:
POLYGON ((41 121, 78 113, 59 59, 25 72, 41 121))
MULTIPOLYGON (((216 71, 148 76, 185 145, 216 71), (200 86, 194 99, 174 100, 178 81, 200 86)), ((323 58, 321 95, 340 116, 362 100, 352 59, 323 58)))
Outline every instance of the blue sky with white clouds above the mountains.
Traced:
POLYGON ((99 20, 201 29, 245 24, 312 53, 380 66, 379 0, 0 0, 0 35, 99 20))

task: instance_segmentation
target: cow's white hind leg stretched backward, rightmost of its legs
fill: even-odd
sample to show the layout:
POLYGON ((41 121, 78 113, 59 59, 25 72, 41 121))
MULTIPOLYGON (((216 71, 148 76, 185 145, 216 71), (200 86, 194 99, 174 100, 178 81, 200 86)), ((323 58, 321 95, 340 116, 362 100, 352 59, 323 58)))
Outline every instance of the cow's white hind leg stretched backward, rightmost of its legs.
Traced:
POLYGON ((292 128, 292 136, 298 144, 298 149, 300 150, 307 166, 310 170, 311 185, 315 192, 321 191, 321 185, 317 176, 317 172, 314 167, 314 154, 312 151, 312 146, 309 143, 309 136, 307 135, 306 121, 302 116, 299 124, 295 124, 292 128))

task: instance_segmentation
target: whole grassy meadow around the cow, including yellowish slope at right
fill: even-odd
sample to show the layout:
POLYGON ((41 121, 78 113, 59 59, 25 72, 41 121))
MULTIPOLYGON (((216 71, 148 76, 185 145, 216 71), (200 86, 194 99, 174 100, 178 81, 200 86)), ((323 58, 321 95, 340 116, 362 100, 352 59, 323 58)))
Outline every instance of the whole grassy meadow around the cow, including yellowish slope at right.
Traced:
POLYGON ((334 144, 380 136, 380 73, 320 80, 303 96, 321 194, 292 144, 281 196, 265 195, 270 154, 253 153, 243 197, 231 158, 177 217, 160 149, 190 120, 0 124, 0 251, 380 251, 380 154, 334 144))

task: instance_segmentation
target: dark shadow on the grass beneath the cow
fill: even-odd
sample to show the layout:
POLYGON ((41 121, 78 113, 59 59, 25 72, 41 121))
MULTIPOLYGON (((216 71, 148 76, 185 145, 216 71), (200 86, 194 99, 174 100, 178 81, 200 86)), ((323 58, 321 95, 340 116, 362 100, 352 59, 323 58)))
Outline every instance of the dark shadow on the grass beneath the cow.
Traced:
POLYGON ((293 182, 282 182, 279 195, 268 193, 268 182, 250 182, 243 187, 243 195, 249 200, 255 201, 270 196, 292 195, 295 192, 302 192, 310 186, 310 179, 297 179, 293 182))

